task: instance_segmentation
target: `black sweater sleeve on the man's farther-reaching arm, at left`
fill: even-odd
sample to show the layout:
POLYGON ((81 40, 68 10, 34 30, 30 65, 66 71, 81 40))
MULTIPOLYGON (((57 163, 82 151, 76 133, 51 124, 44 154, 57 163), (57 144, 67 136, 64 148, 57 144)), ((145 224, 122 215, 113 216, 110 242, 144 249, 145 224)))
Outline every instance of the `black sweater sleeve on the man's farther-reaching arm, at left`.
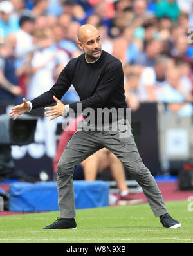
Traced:
POLYGON ((71 86, 73 74, 71 70, 71 61, 69 61, 69 63, 60 73, 55 85, 53 85, 53 87, 49 91, 44 92, 37 98, 31 100, 32 109, 37 109, 38 107, 45 107, 47 105, 55 103, 55 100, 53 100, 53 96, 61 100, 62 96, 68 91, 69 87, 71 86))

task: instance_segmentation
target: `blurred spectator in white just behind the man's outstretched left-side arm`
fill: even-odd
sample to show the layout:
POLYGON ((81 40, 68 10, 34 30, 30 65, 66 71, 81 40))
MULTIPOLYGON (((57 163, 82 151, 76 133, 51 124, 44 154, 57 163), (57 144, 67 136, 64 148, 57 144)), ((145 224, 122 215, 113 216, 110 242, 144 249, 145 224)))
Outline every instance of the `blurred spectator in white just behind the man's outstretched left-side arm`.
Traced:
POLYGON ((64 68, 69 58, 66 52, 57 50, 54 45, 53 30, 35 30, 33 33, 35 45, 42 45, 40 50, 36 50, 32 59, 32 75, 27 85, 27 98, 31 100, 48 91, 55 83, 53 72, 57 65, 64 68), (46 78, 46 79, 45 79, 46 78))

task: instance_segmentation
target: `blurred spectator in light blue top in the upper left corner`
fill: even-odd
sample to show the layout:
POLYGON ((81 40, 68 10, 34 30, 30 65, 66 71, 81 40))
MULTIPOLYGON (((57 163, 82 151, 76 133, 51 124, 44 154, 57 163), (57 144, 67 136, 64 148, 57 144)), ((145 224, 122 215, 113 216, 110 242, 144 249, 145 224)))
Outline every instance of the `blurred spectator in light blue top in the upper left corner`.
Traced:
POLYGON ((4 37, 19 30, 19 20, 12 15, 13 12, 14 5, 10 1, 0 2, 0 27, 4 37))

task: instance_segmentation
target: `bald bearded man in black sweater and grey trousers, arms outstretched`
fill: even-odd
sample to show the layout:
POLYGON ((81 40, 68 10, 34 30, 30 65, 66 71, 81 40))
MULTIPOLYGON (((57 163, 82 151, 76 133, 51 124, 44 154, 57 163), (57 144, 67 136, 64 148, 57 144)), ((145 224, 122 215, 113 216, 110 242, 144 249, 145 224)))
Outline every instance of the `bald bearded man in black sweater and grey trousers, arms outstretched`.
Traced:
MULTIPOLYGON (((87 111, 88 108, 90 108, 90 111, 91 109, 95 110, 94 114, 96 114, 96 111, 98 114, 100 108, 105 108, 106 110, 114 108, 117 110, 123 109, 124 118, 126 118, 124 74, 120 61, 111 56, 111 54, 102 51, 98 30, 91 25, 83 25, 79 28, 78 47, 84 50, 84 54, 69 61, 57 82, 49 91, 30 102, 23 98, 23 104, 17 105, 10 112, 10 116, 16 115, 14 120, 24 112, 30 111, 30 109, 43 107, 54 103, 54 101, 57 102, 56 106, 45 108, 48 109, 45 114, 51 117, 50 120, 62 116, 64 111, 78 112, 79 104, 82 107, 83 116, 84 110, 87 111), (65 106, 59 99, 62 98, 71 84, 74 85, 78 92, 81 103, 71 103, 65 106)), ((96 117, 98 118, 97 114, 96 117)), ((124 120, 126 123, 124 125, 122 123, 123 117, 121 116, 121 118, 118 116, 118 120, 115 122, 111 116, 109 119, 113 119, 113 122, 109 125, 107 125, 106 118, 103 118, 102 126, 100 127, 98 127, 97 120, 96 129, 93 129, 93 122, 89 120, 91 123, 91 129, 89 130, 87 130, 89 122, 86 120, 81 122, 80 125, 78 123, 78 131, 68 141, 57 165, 60 218, 44 229, 77 228, 75 222, 73 170, 80 162, 103 147, 114 153, 122 164, 129 169, 131 175, 142 187, 154 215, 160 217, 163 226, 166 228, 181 227, 179 222, 170 217, 156 181, 140 158, 131 134, 131 127, 127 120, 124 120), (80 129, 82 126, 85 128, 80 129), (116 127, 118 129, 115 129, 116 127)))

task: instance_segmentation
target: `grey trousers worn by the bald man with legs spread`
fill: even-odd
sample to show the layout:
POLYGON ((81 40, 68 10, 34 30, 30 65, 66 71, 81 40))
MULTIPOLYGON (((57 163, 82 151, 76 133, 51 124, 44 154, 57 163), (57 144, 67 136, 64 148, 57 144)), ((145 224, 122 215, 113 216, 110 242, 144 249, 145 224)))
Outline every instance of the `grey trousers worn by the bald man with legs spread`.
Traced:
POLYGON ((118 126, 109 131, 77 130, 68 144, 57 165, 57 189, 61 218, 74 218, 75 197, 73 189, 73 171, 88 156, 106 147, 114 153, 124 167, 133 175, 142 187, 155 217, 167 213, 163 198, 149 169, 145 167, 131 133, 130 125, 118 126))

